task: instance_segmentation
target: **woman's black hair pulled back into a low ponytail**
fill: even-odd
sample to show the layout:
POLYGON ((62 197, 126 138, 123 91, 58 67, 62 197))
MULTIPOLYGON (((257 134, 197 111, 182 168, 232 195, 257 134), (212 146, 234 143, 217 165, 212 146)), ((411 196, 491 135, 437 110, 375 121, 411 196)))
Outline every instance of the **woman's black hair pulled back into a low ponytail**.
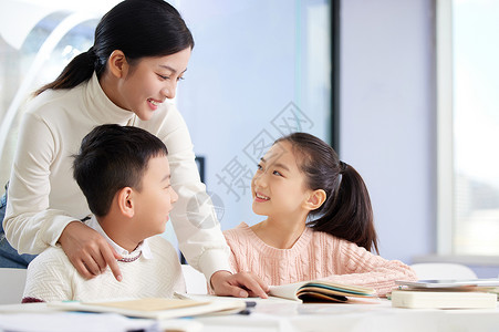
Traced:
POLYGON ((144 56, 164 56, 194 48, 194 39, 180 13, 164 0, 125 0, 111 9, 95 29, 94 44, 75 56, 48 89, 72 89, 100 77, 107 59, 121 50, 129 63, 144 56))

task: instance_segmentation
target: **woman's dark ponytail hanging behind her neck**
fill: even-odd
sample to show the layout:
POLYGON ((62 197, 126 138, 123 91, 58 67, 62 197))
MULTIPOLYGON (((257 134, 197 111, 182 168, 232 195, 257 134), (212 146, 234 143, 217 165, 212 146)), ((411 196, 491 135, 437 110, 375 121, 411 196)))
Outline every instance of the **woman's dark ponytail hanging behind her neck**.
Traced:
MULTIPOLYGON (((100 64, 101 61, 98 61, 94 48, 92 46, 89 51, 83 52, 71 60, 55 81, 37 90, 34 95, 39 95, 49 89, 72 89, 80 83, 86 82, 92 77, 94 71, 97 71, 100 64)), ((102 68, 103 65, 101 64, 100 66, 102 68)))

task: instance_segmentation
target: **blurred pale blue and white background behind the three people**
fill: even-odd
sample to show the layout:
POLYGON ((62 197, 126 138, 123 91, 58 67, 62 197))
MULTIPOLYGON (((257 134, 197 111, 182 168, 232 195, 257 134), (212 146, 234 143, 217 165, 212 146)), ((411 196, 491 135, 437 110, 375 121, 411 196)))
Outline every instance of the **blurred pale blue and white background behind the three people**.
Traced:
MULTIPOLYGON (((0 0, 1 185, 30 94, 117 2, 0 0)), ((168 2, 196 42, 176 103, 222 229, 261 220, 258 159, 303 131, 363 176, 383 257, 498 276, 497 1, 168 2)))

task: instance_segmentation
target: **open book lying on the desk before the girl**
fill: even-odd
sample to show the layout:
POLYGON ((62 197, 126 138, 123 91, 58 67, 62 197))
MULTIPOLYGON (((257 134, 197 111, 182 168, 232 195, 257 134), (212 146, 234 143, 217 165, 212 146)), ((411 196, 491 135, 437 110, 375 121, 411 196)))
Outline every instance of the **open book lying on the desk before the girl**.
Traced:
POLYGON ((271 286, 270 295, 303 302, 349 302, 353 299, 373 298, 371 288, 312 280, 282 286, 271 286))

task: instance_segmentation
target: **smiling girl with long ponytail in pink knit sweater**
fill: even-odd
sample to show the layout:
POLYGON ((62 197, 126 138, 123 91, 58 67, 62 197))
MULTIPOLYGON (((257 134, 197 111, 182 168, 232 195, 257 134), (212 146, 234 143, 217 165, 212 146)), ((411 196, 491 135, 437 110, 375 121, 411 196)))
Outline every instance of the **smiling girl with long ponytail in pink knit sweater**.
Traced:
POLYGON ((358 173, 323 141, 305 133, 278 139, 251 181, 252 209, 267 219, 226 230, 235 271, 268 284, 328 279, 376 289, 416 280, 401 261, 377 250, 367 189, 358 173))

